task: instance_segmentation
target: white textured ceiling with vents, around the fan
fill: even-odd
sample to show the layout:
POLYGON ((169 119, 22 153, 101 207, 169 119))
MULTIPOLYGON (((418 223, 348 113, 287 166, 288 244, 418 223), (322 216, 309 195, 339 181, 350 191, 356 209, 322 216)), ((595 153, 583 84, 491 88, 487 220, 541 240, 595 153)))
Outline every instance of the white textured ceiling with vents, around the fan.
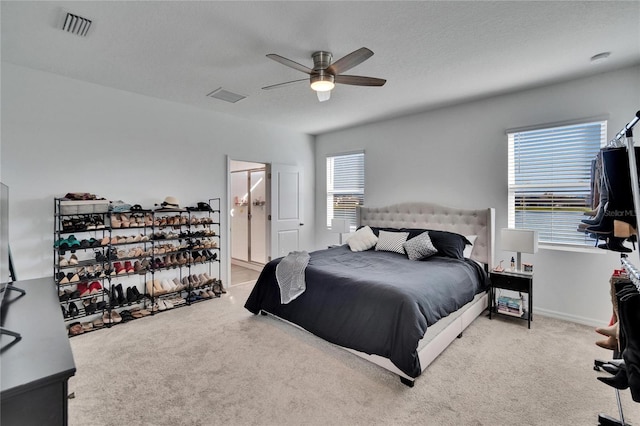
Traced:
POLYGON ((640 63, 638 1, 5 1, 2 61, 198 108, 320 134, 363 122, 640 63), (85 38, 58 29, 93 20, 85 38), (360 48, 347 74, 384 87, 338 85, 318 102, 305 74, 360 48), (589 58, 610 51, 607 62, 589 58), (205 95, 246 95, 235 104, 205 95))

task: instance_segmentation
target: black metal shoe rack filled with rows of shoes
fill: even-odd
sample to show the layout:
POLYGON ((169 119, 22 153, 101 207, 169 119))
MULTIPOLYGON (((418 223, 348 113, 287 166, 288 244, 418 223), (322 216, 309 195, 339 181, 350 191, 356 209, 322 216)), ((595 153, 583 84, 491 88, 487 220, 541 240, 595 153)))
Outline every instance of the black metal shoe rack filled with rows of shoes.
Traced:
MULTIPOLYGON (((110 319, 112 318, 112 311, 122 312, 123 310, 128 310, 133 307, 147 309, 151 315, 155 315, 163 312, 158 309, 154 310, 154 307, 158 307, 158 303, 161 300, 164 301, 181 297, 184 299, 184 303, 173 307, 179 308, 209 300, 209 298, 202 296, 202 292, 214 292, 215 297, 220 297, 221 293, 224 292, 224 287, 220 279, 220 198, 209 199, 206 210, 156 209, 101 213, 63 212, 62 201, 60 198, 54 200, 53 270, 66 324, 81 322, 83 320, 91 322, 91 320, 105 317, 105 313, 108 314, 105 318, 110 319), (143 221, 142 224, 136 222, 134 226, 131 226, 133 222, 130 221, 129 226, 126 227, 123 227, 122 222, 120 222, 119 225, 114 227, 112 225, 118 223, 117 215, 120 215, 119 217, 125 215, 127 218, 140 217, 140 215, 142 215, 143 218, 147 217, 150 221, 143 221), (101 219, 100 229, 95 229, 93 226, 91 229, 63 226, 63 224, 70 223, 72 219, 80 223, 83 220, 89 221, 93 216, 101 219), (174 223, 174 219, 174 221, 169 224, 167 218, 176 216, 184 217, 185 219, 181 220, 181 223, 174 223), (207 218, 207 220, 203 221, 203 218, 207 218), (167 233, 173 236, 170 238, 157 238, 167 233), (205 233, 209 235, 204 235, 205 233), (87 243, 85 243, 86 247, 74 245, 72 248, 61 248, 59 246, 61 241, 71 238, 72 236, 75 238, 76 234, 86 241, 90 241, 91 238, 93 238, 94 245, 87 245, 87 243), (139 234, 137 236, 139 238, 136 238, 135 234, 139 234), (119 242, 119 238, 123 241, 119 242), (194 254, 203 252, 200 246, 203 245, 203 240, 205 239, 208 240, 210 247, 204 250, 209 251, 210 255, 207 255, 199 262, 193 262, 194 254), (99 244, 103 240, 108 240, 108 243, 104 245, 99 244), (98 242, 97 245, 96 241, 98 242), (212 247, 213 242, 215 242, 215 247, 212 247), (175 247, 176 250, 160 252, 159 248, 163 245, 167 247, 171 245, 175 247), (138 252, 142 252, 142 254, 129 256, 128 254, 132 254, 132 250, 136 248, 140 248, 138 252), (95 253, 94 258, 87 258, 87 252, 89 251, 95 253), (61 265, 60 262, 63 259, 65 262, 68 262, 66 258, 70 252, 72 254, 78 254, 78 262, 74 262, 73 265, 61 265), (180 264, 167 264, 167 259, 172 256, 177 257, 178 255, 187 261, 180 264), (162 262, 161 259, 163 258, 165 262, 162 262), (128 270, 123 266, 125 264, 128 270), (142 268, 143 264, 146 266, 145 268, 142 268), (216 264, 217 268, 215 266, 216 264), (132 270, 133 265, 136 265, 138 268, 132 270), (116 267, 118 268, 117 271, 116 267), (153 283, 154 280, 160 279, 163 275, 167 275, 166 272, 172 269, 176 270, 177 278, 180 282, 183 282, 183 279, 187 277, 186 282, 188 285, 185 288, 177 291, 163 291, 159 294, 157 288, 152 285, 151 291, 147 291, 147 282, 151 281, 153 283), (88 274, 88 271, 92 271, 92 273, 88 274), (120 273, 118 274, 117 272, 120 273), (196 273, 204 272, 213 279, 213 282, 194 287, 192 285, 193 282, 189 281, 188 277, 196 273), (81 273, 84 273, 84 275, 81 275, 81 273), (67 276, 67 274, 69 275, 67 276), (133 282, 135 280, 132 278, 135 277, 139 278, 137 282, 133 282), (71 279, 73 279, 73 282, 66 282, 71 279), (77 292, 70 294, 72 286, 89 286, 95 281, 101 286, 98 292, 82 297, 80 297, 77 292), (129 287, 125 287, 120 281, 127 283, 131 289, 135 287, 142 297, 136 300, 129 300, 127 295, 124 294, 124 289, 129 289, 129 287), (119 289, 118 283, 120 284, 119 289), (65 289, 67 292, 65 292, 65 289), (117 292, 116 289, 122 293, 118 294, 119 292, 117 292), (119 295, 123 296, 124 303, 119 303, 119 295), (92 302, 94 298, 95 301, 92 302), (94 304, 92 305, 92 303, 94 304), (69 315, 69 308, 72 304, 75 305, 77 309, 74 309, 74 315, 69 315)), ((125 321, 105 322, 104 326, 111 327, 124 322, 125 321)), ((70 337, 72 337, 71 334, 70 337)))

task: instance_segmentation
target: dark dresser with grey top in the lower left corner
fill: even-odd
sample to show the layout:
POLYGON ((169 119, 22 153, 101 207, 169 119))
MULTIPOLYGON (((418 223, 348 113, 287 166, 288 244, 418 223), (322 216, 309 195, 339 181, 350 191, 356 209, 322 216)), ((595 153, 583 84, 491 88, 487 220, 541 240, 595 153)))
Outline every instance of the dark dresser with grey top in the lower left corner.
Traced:
POLYGON ((0 335, 0 424, 66 425, 67 382, 76 372, 58 294, 51 278, 16 281, 5 290, 0 335))

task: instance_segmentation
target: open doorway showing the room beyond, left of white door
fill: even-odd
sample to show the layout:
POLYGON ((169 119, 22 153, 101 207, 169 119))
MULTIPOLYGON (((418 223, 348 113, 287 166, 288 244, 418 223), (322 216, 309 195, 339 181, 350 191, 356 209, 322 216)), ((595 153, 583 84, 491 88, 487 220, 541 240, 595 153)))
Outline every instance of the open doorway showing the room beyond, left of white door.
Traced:
POLYGON ((230 160, 231 285, 257 279, 268 261, 267 166, 230 160))

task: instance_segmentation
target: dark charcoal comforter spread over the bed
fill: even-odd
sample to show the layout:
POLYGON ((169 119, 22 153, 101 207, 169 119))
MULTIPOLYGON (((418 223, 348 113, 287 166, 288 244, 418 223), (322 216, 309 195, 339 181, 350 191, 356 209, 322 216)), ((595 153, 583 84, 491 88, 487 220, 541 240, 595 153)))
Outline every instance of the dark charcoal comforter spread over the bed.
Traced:
POLYGON ((282 258, 265 265, 245 303, 297 324, 329 342, 388 358, 410 377, 421 373, 418 341, 427 327, 486 290, 487 274, 476 262, 349 247, 312 252, 306 291, 280 303, 275 278, 282 258))

